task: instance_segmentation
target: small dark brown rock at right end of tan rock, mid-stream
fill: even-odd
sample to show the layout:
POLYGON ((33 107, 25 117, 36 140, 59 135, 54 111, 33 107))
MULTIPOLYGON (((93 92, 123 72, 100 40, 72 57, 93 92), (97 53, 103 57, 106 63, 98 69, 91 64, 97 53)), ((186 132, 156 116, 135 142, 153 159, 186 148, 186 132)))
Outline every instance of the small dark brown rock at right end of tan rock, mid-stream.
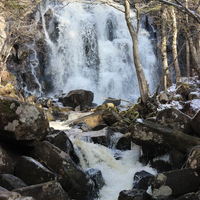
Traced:
POLYGON ((113 107, 108 107, 105 109, 102 117, 108 126, 111 126, 112 124, 123 119, 123 117, 113 107))

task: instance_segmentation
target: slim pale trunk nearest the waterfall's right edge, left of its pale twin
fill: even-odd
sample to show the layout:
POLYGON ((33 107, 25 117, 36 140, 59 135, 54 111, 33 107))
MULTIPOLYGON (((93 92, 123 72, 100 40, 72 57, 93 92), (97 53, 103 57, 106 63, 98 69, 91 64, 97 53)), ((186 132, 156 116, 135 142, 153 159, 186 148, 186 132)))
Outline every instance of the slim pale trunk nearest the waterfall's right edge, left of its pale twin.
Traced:
MULTIPOLYGON (((165 5, 162 4, 162 22, 161 22, 161 54, 162 54, 162 67, 163 72, 168 67, 167 63, 167 38, 166 38, 166 8, 165 5)), ((165 80, 169 80, 169 71, 166 72, 167 79, 164 79, 163 85, 164 89, 166 90, 165 80)))

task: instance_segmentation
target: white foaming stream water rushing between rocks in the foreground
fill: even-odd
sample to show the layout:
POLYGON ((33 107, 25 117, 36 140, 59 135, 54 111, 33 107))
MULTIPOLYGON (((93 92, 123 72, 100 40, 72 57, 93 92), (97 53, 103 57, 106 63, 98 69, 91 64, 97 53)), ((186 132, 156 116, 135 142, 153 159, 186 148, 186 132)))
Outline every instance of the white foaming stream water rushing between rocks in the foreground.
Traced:
POLYGON ((138 171, 156 174, 155 170, 138 162, 141 150, 137 145, 130 151, 121 152, 122 159, 116 160, 114 150, 102 145, 75 139, 72 142, 82 168, 97 168, 102 172, 105 186, 100 190, 98 200, 117 200, 122 190, 132 189, 133 177, 138 171))

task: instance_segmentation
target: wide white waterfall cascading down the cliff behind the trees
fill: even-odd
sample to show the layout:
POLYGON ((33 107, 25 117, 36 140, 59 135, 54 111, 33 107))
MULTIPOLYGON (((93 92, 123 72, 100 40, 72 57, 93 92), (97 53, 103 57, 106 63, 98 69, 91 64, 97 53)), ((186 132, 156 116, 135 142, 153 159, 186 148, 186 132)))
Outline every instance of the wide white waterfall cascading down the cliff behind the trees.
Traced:
MULTIPOLYGON (((94 102, 99 104, 103 101, 101 97, 137 100, 139 87, 132 40, 124 13, 107 5, 83 3, 46 5, 43 13, 50 53, 45 71, 50 83, 48 92, 91 90, 94 102), (51 18, 47 22, 49 10, 51 18)), ((134 13, 132 17, 134 19, 134 13)), ((153 91, 156 58, 144 29, 140 29, 139 54, 153 91)))

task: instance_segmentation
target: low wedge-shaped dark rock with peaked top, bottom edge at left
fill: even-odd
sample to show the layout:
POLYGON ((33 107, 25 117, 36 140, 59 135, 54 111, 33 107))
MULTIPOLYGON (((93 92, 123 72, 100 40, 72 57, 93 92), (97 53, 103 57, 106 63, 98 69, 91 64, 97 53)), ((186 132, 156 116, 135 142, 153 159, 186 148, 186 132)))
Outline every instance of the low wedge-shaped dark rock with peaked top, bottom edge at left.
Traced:
POLYGON ((22 196, 32 196, 36 200, 71 200, 57 181, 31 185, 13 191, 22 196))

